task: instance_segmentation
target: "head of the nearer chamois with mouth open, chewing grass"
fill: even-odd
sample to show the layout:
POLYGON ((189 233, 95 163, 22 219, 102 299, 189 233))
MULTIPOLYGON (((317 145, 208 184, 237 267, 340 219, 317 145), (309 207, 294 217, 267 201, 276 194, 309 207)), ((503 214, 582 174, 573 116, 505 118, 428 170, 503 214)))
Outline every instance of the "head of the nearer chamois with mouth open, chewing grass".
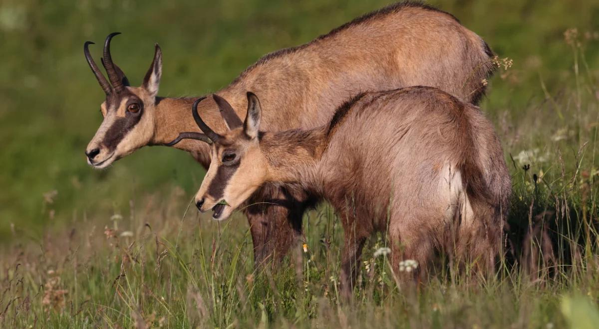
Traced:
POLYGON ((212 145, 210 167, 195 202, 199 211, 212 209, 215 220, 225 220, 262 185, 267 177, 267 166, 259 147, 258 97, 247 93, 247 115, 243 123, 225 99, 217 95, 213 98, 228 131, 224 135, 215 133, 199 117, 197 107, 202 99, 193 103, 193 118, 204 132, 194 138, 212 145))

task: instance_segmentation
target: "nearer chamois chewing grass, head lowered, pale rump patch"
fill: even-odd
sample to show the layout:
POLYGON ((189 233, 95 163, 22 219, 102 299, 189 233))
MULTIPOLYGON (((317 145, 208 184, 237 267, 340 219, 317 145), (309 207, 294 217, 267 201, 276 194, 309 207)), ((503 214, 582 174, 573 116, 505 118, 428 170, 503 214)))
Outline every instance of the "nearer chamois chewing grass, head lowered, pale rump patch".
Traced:
MULTIPOLYGON (((218 96, 214 96, 219 99, 218 96)), ((334 206, 344 229, 341 284, 347 296, 371 234, 387 234, 395 273, 416 260, 426 273, 435 251, 489 273, 511 194, 500 141, 479 108, 431 87, 364 93, 313 129, 261 132, 261 105, 247 93, 241 124, 219 99, 229 127, 214 132, 196 194, 200 211, 227 218, 262 185, 308 191, 334 206)))

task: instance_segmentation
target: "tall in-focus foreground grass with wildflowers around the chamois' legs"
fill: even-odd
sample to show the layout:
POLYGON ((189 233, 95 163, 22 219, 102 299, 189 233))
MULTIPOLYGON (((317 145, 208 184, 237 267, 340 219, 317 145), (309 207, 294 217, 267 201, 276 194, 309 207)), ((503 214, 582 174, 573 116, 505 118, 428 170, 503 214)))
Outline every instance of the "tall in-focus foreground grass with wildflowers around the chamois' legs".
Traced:
MULTIPOLYGON (((198 218, 187 211, 193 205, 184 192, 173 188, 166 199, 147 197, 112 218, 73 218, 69 229, 7 246, 0 260, 0 325, 592 328, 599 316, 595 226, 587 239, 580 212, 539 217, 555 211, 555 203, 530 181, 516 175, 510 221, 526 217, 536 200, 530 224, 562 234, 554 241, 566 254, 550 251, 543 234, 513 231, 507 245, 524 243, 507 248, 494 278, 441 267, 426 284, 398 285, 385 256, 374 256, 385 240, 373 237, 352 304, 338 297, 343 233, 331 209, 307 215, 305 251, 298 246, 283 266, 256 271, 249 233, 238 229, 243 217, 198 218), (558 221, 568 221, 571 231, 554 226, 558 221)), ((571 197, 556 202, 581 206, 571 197)), ((597 211, 587 214, 597 221, 597 211)))

